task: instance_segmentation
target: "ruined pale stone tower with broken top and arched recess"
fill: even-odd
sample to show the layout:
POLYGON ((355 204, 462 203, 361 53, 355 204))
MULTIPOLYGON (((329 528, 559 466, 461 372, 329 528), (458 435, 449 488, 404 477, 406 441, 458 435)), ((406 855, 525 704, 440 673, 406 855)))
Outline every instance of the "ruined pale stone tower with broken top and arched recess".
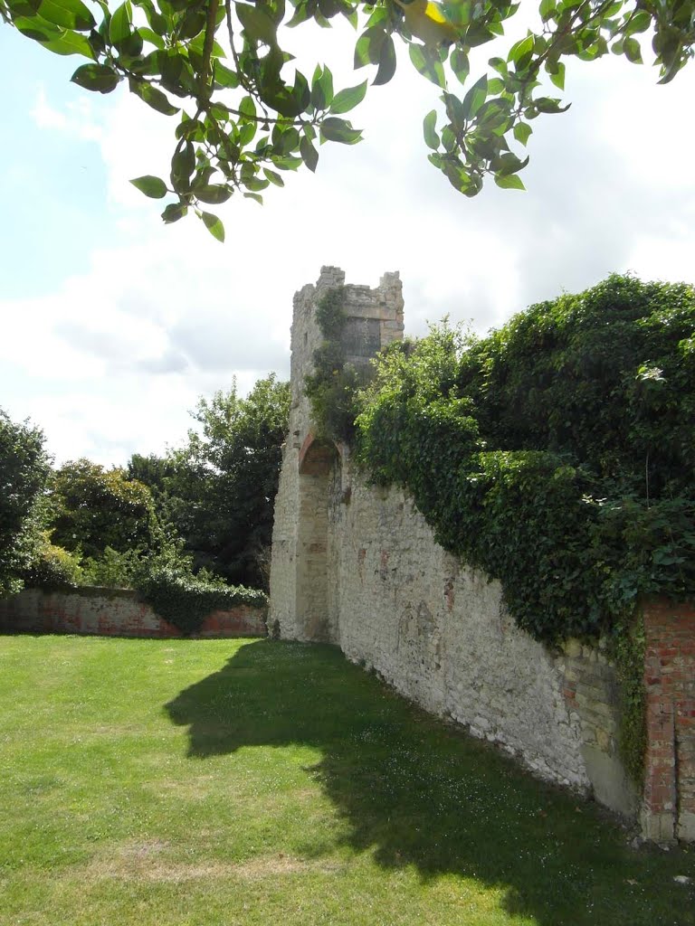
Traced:
POLYGON ((338 643, 335 601, 327 582, 332 550, 328 505, 331 482, 349 493, 347 447, 326 444, 312 432, 304 381, 313 370, 313 353, 322 343, 316 307, 322 295, 344 287, 347 321, 343 345, 347 362, 366 364, 379 350, 403 336, 403 297, 398 272, 385 273, 375 289, 345 286, 345 272, 322 267, 313 286, 294 300, 292 321, 291 409, 283 469, 275 501, 272 535, 272 632, 295 640, 338 643), (345 465, 344 465, 345 464, 345 465))

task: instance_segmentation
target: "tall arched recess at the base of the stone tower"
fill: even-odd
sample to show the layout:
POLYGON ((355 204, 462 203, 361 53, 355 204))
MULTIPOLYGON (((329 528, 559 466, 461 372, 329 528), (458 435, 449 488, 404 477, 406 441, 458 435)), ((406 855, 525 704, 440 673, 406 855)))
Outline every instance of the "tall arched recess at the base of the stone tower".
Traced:
POLYGON ((309 434, 299 451, 297 624, 306 640, 328 642, 328 489, 335 444, 309 434))

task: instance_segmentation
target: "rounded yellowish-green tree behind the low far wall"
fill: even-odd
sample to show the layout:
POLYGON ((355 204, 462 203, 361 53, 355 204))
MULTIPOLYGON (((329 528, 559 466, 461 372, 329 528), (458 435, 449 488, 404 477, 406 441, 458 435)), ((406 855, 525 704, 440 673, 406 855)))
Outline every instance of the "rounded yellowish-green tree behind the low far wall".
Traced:
POLYGON ((152 495, 123 469, 85 458, 65 463, 51 479, 50 502, 53 542, 84 557, 98 559, 107 547, 126 553, 157 543, 152 495))

